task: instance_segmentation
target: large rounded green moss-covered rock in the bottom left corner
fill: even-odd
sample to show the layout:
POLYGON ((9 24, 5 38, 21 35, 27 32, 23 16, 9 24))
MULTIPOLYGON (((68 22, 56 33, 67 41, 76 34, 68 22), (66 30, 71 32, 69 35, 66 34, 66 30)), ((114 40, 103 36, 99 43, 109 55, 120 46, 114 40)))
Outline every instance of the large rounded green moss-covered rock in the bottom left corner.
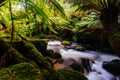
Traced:
POLYGON ((0 70, 0 80, 43 80, 41 72, 30 63, 20 63, 0 70))

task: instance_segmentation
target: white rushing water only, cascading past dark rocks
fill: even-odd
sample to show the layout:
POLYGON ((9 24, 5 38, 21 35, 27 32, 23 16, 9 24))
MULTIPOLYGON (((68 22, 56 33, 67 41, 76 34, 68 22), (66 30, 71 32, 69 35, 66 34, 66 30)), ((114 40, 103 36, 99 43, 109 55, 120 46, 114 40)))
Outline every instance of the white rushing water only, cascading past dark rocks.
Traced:
MULTIPOLYGON (((85 74, 89 80, 115 80, 113 74, 107 72, 102 68, 103 61, 111 61, 113 59, 120 59, 115 55, 109 55, 105 53, 99 53, 95 51, 76 51, 74 49, 66 49, 60 41, 49 41, 47 49, 52 49, 54 52, 59 52, 62 55, 62 59, 66 61, 69 66, 69 60, 73 59, 74 61, 81 63, 81 58, 87 58, 94 63, 91 64, 91 69, 89 73, 85 74)), ((62 67, 63 68, 63 67, 62 67)))

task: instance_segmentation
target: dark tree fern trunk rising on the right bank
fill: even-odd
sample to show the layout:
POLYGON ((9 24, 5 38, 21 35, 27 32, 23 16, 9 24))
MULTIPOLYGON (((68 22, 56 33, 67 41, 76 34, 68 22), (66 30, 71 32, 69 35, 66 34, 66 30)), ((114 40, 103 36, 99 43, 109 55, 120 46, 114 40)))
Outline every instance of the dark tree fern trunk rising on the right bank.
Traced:
POLYGON ((115 53, 120 57, 120 26, 118 24, 118 13, 113 11, 103 12, 100 16, 101 23, 105 30, 105 36, 110 42, 115 53))

